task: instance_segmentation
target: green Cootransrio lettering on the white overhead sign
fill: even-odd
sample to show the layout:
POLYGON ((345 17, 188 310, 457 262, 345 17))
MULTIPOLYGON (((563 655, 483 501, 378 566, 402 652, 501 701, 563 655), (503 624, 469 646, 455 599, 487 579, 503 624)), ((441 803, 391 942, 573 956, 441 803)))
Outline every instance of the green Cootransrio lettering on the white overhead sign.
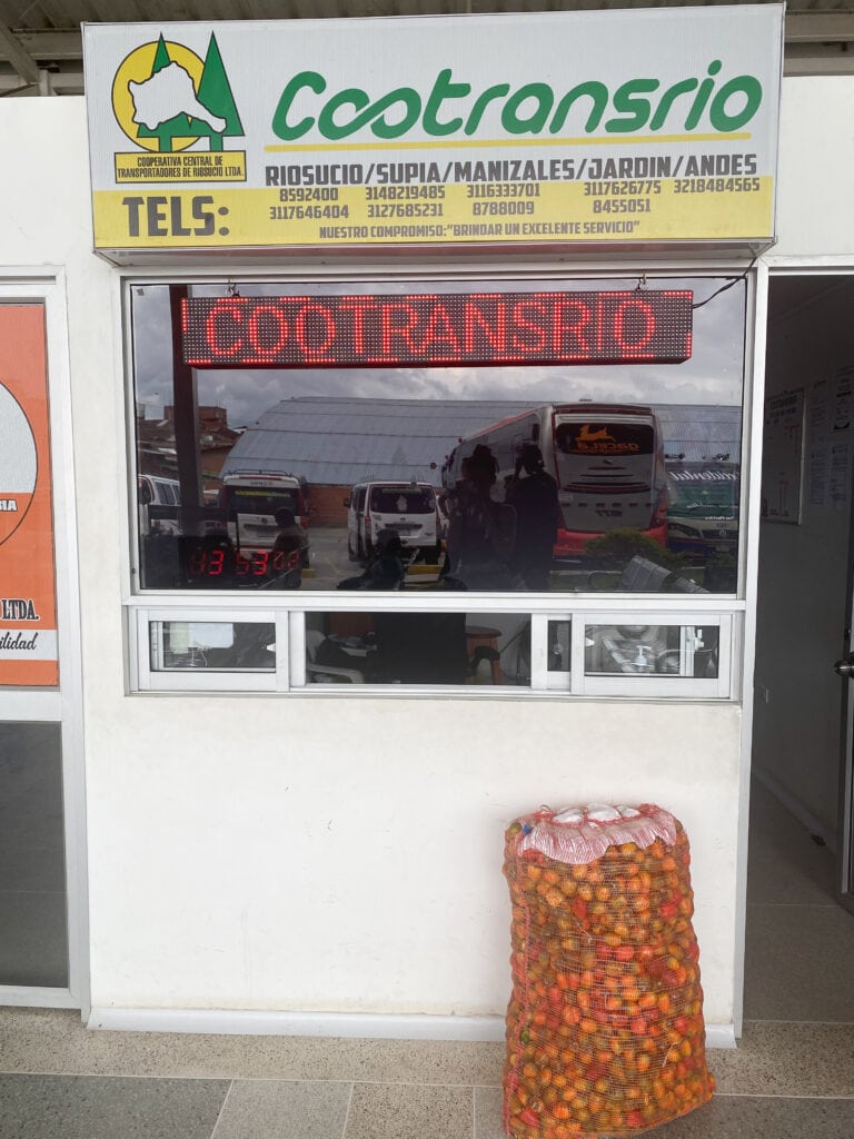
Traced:
POLYGON ((473 137, 494 133, 498 116, 511 136, 548 137, 578 129, 586 134, 728 134, 745 128, 762 101, 759 80, 730 74, 722 59, 712 59, 703 76, 685 75, 670 84, 638 76, 616 88, 586 77, 566 87, 539 80, 478 87, 444 67, 422 90, 397 87, 372 93, 358 87, 336 90, 320 72, 301 71, 279 97, 272 131, 288 142, 312 131, 339 141, 366 128, 378 139, 399 139, 419 126, 433 138, 473 137))

